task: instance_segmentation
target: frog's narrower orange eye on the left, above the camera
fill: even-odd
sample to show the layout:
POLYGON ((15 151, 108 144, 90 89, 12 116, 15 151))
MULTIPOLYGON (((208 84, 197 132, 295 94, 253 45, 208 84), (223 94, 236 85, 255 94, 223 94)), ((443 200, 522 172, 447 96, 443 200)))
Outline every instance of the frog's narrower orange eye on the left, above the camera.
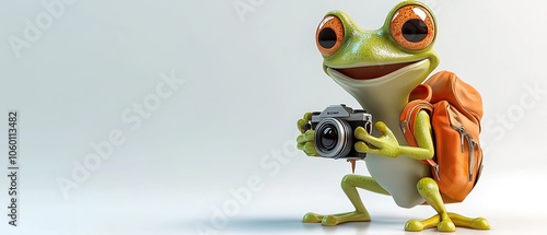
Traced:
POLYGON ((323 56, 331 56, 338 51, 344 40, 344 24, 340 19, 327 15, 317 26, 315 43, 323 56))

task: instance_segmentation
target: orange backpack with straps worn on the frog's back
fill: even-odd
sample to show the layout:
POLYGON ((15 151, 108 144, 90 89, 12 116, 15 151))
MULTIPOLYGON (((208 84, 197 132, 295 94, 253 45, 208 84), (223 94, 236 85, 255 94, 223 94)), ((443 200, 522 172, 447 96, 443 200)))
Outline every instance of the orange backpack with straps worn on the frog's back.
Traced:
POLYGON ((479 144, 482 99, 456 74, 441 71, 409 95, 400 125, 409 145, 417 146, 414 125, 418 111, 430 115, 435 155, 424 160, 445 203, 462 202, 475 187, 482 169, 479 144))

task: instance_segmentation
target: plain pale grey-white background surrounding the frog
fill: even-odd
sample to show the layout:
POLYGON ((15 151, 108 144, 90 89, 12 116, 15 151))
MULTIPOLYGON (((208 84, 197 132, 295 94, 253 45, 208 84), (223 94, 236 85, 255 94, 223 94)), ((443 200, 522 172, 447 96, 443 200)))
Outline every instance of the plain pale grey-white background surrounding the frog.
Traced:
MULTIPOLYGON (((0 178, 1 234, 404 234, 407 220, 433 215, 363 191, 371 223, 300 222, 307 211, 352 210, 339 187, 349 164, 294 150, 305 111, 357 106, 323 73, 315 27, 340 9, 377 28, 398 1, 67 0, 55 15, 43 5, 49 2, 59 1, 0 8, 0 175, 8 173, 11 108, 20 111, 21 166, 18 227, 8 225, 9 183, 0 178), (236 3, 249 11, 238 13, 236 3), (42 22, 34 38, 25 37, 27 21, 42 22), (14 49, 13 38, 27 47, 14 49), (158 98, 159 85, 170 91, 160 74, 178 81, 168 97, 158 98), (148 105, 146 115, 135 105, 148 105), (123 143, 85 166, 92 145, 112 131, 123 143), (89 174, 74 178, 79 167, 89 174), (63 190, 60 179, 78 188, 63 190), (260 181, 251 190, 248 180, 260 181), (234 190, 251 193, 236 202, 234 190)), ((492 230, 457 233, 539 233, 547 219, 547 3, 426 2, 439 25, 438 69, 477 87, 485 105, 482 178, 449 209, 485 216, 492 230)), ((363 163, 357 173, 368 174, 363 163)))

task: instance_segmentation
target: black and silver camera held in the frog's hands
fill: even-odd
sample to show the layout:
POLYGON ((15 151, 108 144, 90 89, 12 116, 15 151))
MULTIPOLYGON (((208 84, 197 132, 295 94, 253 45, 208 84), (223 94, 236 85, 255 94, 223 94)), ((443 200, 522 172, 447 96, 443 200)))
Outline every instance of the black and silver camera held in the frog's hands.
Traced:
POLYGON ((346 105, 330 105, 323 111, 312 114, 312 129, 315 130, 315 150, 322 157, 363 160, 366 154, 353 148, 358 141, 353 131, 363 127, 372 131, 372 115, 363 109, 352 109, 346 105))

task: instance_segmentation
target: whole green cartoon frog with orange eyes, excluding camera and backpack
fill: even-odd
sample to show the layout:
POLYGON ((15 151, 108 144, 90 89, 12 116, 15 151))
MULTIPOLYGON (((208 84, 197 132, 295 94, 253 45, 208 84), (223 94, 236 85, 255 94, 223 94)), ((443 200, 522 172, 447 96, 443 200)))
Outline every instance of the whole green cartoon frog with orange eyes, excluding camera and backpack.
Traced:
MULTIPOLYGON (((490 227, 484 218, 472 219, 446 211, 429 166, 420 162, 434 155, 429 115, 421 110, 416 118, 418 146, 409 146, 399 128, 399 116, 410 91, 439 64, 439 57, 432 49, 435 36, 432 11, 418 1, 397 4, 384 25, 375 31, 359 28, 340 11, 328 12, 319 23, 316 44, 324 57, 324 71, 380 121, 371 134, 361 127, 354 130, 354 137, 361 140, 354 149, 368 153, 365 164, 371 174, 349 174, 341 180, 341 188, 356 210, 331 215, 310 212, 303 222, 337 225, 370 221, 357 191, 362 188, 392 196, 401 208, 427 202, 438 212, 423 221, 409 220, 405 225, 407 231, 434 226, 442 232, 453 232, 456 226, 490 227)), ((311 116, 307 113, 298 121, 302 132, 298 137, 298 148, 314 156, 317 155, 314 130, 305 128, 311 116)))

